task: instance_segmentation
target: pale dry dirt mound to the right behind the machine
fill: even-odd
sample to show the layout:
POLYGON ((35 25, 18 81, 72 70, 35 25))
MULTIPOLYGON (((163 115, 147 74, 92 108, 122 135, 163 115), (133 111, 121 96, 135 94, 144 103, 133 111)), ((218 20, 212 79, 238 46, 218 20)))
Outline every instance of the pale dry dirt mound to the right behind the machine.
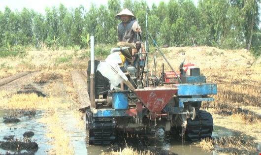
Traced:
MULTIPOLYGON (((215 47, 169 47, 162 48, 162 51, 171 65, 176 68, 185 59, 185 63, 194 63, 196 67, 249 67, 256 60, 250 52, 245 49, 222 50, 215 47), (185 55, 183 55, 185 53, 185 55)), ((152 55, 152 54, 150 54, 152 55)), ((166 62, 160 53, 157 54, 158 68, 162 68, 162 63, 166 62)), ((152 57, 151 57, 152 60, 152 57)), ((166 65, 165 65, 166 66, 166 65)))

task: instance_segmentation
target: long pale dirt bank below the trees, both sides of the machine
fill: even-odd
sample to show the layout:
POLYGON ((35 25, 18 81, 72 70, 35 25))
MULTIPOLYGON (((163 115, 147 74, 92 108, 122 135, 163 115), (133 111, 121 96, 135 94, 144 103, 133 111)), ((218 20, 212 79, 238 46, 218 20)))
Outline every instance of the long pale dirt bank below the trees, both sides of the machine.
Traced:
MULTIPOLYGON (((167 47, 167 48, 161 48, 161 50, 163 51, 165 57, 168 59, 168 61, 171 63, 171 65, 174 68, 178 68, 179 64, 182 62, 184 58, 186 59, 185 63, 192 62, 195 63, 195 65, 200 68, 220 67, 220 66, 249 67, 253 64, 254 65, 260 64, 260 61, 256 62, 255 58, 251 55, 251 53, 246 51, 245 49, 223 50, 215 47, 200 46, 200 47, 167 47), (183 56, 182 53, 185 53, 185 56, 183 56)), ((153 60, 154 51, 155 49, 150 48, 150 52, 149 52, 149 63, 151 63, 150 66, 152 66, 153 63, 152 60, 153 60)), ((26 58, 24 59, 0 58, 0 62, 5 64, 9 68, 16 68, 19 71, 23 71, 25 69, 50 70, 50 69, 57 69, 58 67, 57 61, 59 61, 63 57, 72 56, 72 60, 70 60, 70 62, 66 63, 65 65, 60 66, 60 68, 72 69, 72 70, 75 69, 85 70, 87 68, 87 61, 79 59, 79 57, 82 56, 83 52, 84 52, 83 50, 77 52, 73 50, 28 51, 26 58)), ((158 52, 157 67, 162 68, 163 62, 166 64, 160 52, 158 52)), ((46 80, 50 78, 52 79, 58 77, 59 75, 55 75, 53 73, 47 72, 36 77, 34 80, 36 83, 41 84, 41 83, 45 83, 46 80)))

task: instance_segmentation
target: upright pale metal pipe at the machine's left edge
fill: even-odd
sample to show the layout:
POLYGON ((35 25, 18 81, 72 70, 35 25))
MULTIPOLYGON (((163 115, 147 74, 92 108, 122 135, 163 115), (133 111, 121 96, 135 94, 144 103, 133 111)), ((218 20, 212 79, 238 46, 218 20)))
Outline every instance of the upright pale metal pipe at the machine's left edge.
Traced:
POLYGON ((91 87, 91 91, 90 91, 90 100, 91 100, 91 108, 95 109, 96 108, 96 104, 95 104, 95 58, 94 58, 94 35, 91 35, 91 75, 90 75, 90 87, 91 87))

